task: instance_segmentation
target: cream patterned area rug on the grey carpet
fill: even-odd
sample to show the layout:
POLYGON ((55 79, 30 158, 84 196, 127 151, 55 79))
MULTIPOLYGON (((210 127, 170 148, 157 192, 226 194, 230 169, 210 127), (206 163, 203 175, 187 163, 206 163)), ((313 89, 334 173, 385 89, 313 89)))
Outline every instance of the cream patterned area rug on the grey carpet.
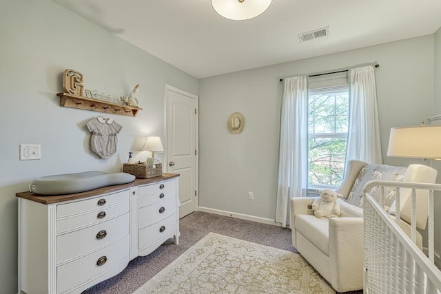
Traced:
POLYGON ((299 254, 209 233, 134 292, 147 293, 336 292, 299 254))

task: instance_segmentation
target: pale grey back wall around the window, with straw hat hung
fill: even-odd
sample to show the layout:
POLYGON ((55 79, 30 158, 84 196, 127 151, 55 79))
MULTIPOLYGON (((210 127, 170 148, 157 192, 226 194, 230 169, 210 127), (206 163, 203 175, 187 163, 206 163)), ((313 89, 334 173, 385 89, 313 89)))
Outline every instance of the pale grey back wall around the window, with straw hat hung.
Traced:
POLYGON ((433 34, 254 70, 203 78, 199 84, 199 205, 274 219, 282 83, 280 77, 377 61, 384 163, 389 129, 419 125, 433 113, 433 34), (232 112, 245 116, 242 134, 228 132, 232 112), (247 198, 254 192, 254 201, 247 198))

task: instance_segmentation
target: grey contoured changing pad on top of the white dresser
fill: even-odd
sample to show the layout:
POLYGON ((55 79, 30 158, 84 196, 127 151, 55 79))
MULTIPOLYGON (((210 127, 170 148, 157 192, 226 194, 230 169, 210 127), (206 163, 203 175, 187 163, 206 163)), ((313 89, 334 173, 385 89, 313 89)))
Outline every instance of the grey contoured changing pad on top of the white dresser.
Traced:
POLYGON ((103 171, 44 176, 32 181, 30 191, 40 195, 64 195, 126 184, 133 182, 135 178, 127 173, 107 174, 103 171))

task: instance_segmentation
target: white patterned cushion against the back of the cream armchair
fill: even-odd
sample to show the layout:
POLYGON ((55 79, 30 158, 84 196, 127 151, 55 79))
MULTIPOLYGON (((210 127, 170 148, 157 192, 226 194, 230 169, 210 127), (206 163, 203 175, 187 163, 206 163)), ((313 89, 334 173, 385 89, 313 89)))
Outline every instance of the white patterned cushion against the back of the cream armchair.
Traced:
MULTIPOLYGON (((363 187, 371 180, 391 180, 394 182, 401 182, 406 173, 407 167, 393 167, 391 165, 374 165, 369 164, 363 167, 358 174, 353 187, 349 192, 347 202, 362 207, 363 205, 363 187)), ((389 211, 393 201, 395 200, 395 190, 384 190, 386 210, 389 211)), ((380 203, 380 188, 375 188, 372 191, 372 197, 380 203)))

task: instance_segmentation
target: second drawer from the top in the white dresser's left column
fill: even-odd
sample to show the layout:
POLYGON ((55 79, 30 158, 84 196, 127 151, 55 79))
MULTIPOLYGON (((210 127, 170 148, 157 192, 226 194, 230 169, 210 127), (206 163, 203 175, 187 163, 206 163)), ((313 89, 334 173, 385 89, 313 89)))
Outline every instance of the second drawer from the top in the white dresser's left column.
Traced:
POLYGON ((94 211, 87 213, 77 214, 75 216, 67 216, 65 218, 59 218, 57 220, 57 234, 67 233, 69 231, 75 231, 83 227, 92 226, 105 222, 115 216, 121 216, 124 213, 129 212, 129 200, 125 200, 115 205, 106 205, 100 207, 94 211))

